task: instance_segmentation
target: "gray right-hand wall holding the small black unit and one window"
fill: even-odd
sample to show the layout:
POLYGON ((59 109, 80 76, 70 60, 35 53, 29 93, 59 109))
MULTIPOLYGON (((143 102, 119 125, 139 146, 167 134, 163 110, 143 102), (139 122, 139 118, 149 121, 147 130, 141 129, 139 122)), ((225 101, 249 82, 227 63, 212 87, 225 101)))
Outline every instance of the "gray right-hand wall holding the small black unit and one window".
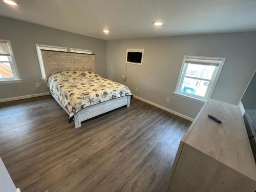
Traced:
POLYGON ((255 45, 256 32, 109 40, 107 77, 126 84, 134 95, 195 118, 203 103, 173 94, 184 55, 226 57, 211 98, 237 104, 256 67, 255 45), (127 48, 145 49, 144 59, 142 66, 127 66, 123 82, 127 48))

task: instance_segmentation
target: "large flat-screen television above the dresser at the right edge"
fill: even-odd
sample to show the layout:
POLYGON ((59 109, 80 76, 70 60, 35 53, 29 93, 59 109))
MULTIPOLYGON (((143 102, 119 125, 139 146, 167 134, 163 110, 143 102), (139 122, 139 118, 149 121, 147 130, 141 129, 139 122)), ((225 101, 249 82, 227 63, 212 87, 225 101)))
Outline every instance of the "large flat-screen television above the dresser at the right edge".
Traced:
POLYGON ((249 83, 243 97, 242 103, 244 105, 245 113, 249 117, 251 124, 256 132, 256 73, 254 73, 251 82, 249 83))

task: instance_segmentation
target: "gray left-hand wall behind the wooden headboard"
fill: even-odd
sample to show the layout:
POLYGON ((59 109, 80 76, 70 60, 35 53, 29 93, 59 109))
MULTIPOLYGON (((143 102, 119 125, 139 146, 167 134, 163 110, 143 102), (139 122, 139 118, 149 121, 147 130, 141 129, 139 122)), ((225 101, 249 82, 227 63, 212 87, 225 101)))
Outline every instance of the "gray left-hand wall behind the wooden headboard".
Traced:
POLYGON ((41 72, 35 44, 90 49, 95 57, 95 71, 106 77, 105 40, 69 33, 0 16, 0 39, 10 40, 22 82, 0 84, 0 99, 48 92, 41 72), (40 87, 36 88, 35 83, 40 87))

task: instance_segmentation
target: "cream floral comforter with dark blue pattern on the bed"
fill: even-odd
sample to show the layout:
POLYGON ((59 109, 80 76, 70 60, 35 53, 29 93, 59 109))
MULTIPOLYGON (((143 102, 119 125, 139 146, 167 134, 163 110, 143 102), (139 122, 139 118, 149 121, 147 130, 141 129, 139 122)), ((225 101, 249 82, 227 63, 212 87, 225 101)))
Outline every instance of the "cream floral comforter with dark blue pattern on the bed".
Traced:
POLYGON ((123 84, 92 71, 62 71, 49 77, 51 93, 69 111, 70 122, 80 110, 118 97, 132 95, 123 84))

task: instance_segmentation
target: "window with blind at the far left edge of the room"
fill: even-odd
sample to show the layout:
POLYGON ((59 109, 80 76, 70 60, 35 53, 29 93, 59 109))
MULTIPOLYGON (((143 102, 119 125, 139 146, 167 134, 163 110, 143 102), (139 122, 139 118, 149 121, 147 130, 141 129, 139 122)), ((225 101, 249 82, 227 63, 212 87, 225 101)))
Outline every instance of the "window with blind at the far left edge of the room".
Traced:
POLYGON ((0 83, 20 82, 9 40, 0 40, 0 83))

